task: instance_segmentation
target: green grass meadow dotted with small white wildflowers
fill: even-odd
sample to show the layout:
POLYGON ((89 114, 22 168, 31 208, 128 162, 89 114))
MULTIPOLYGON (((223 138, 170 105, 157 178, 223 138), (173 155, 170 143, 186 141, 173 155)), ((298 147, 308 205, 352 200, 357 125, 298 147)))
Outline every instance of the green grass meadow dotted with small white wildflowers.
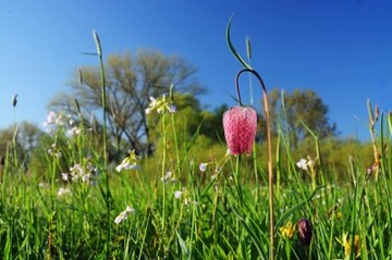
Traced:
POLYGON ((97 144, 84 125, 69 132, 61 113, 51 144, 41 144, 44 166, 29 170, 11 144, 1 165, 1 258, 270 259, 272 235, 274 259, 392 259, 391 115, 372 133, 372 168, 358 149, 334 172, 316 136, 315 158, 293 154, 278 136, 270 198, 265 146, 249 157, 228 154, 223 143, 200 148, 197 133, 179 139, 167 99, 148 112, 160 117, 155 154, 130 151, 119 165, 108 163, 105 135, 97 144))

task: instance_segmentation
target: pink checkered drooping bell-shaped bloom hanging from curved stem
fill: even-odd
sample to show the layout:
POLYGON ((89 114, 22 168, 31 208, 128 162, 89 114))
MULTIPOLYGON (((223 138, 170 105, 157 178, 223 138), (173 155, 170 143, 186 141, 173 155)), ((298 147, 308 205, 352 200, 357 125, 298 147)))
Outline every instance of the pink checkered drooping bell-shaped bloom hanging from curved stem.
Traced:
POLYGON ((231 153, 250 154, 257 129, 256 111, 249 107, 230 108, 223 113, 223 129, 231 153))

